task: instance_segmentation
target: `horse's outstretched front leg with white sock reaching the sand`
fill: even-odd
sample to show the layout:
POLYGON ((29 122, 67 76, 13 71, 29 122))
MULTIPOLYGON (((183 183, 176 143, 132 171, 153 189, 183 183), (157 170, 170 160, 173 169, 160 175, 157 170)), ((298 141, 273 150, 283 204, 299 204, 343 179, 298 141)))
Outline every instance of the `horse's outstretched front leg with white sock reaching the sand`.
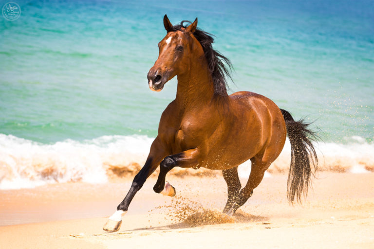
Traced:
POLYGON ((109 217, 107 223, 105 223, 103 230, 104 231, 118 231, 122 224, 122 215, 124 215, 131 203, 132 198, 135 194, 142 188, 146 179, 155 171, 157 166, 160 164, 160 161, 167 155, 166 150, 164 149, 163 144, 160 139, 157 137, 151 147, 150 154, 143 168, 136 174, 135 178, 132 181, 131 188, 129 193, 123 199, 123 201, 118 205, 117 211, 109 217))

